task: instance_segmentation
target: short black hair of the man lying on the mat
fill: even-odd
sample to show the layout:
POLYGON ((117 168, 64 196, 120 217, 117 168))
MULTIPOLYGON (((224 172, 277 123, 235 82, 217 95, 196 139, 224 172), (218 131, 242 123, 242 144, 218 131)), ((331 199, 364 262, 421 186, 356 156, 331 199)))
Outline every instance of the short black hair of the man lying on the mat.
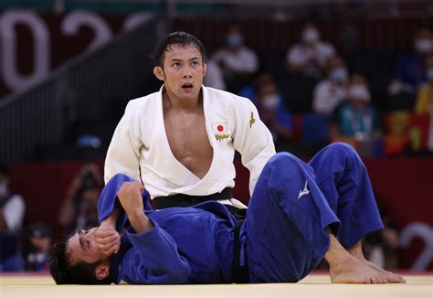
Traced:
POLYGON ((110 278, 102 281, 95 275, 96 267, 100 261, 87 263, 78 261, 70 263, 70 253, 67 252, 67 244, 71 236, 62 236, 58 243, 49 250, 49 271, 57 284, 110 284, 110 278))

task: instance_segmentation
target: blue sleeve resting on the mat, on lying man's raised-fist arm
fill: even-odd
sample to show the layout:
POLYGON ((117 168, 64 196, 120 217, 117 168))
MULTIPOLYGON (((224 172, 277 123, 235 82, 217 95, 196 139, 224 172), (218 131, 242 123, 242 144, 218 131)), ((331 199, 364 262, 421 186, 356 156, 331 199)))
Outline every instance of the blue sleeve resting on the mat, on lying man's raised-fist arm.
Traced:
POLYGON ((180 256, 174 239, 150 219, 153 229, 143 234, 126 232, 132 243, 121 261, 120 277, 135 284, 185 283, 191 274, 189 262, 180 256))

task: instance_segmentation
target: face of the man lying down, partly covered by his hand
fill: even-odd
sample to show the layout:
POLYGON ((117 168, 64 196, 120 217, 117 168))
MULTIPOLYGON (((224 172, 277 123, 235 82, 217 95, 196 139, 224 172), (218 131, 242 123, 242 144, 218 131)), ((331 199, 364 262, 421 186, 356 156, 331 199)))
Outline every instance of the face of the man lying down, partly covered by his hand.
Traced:
POLYGON ((69 260, 72 263, 76 261, 94 263, 107 259, 107 256, 96 245, 96 229, 80 230, 68 240, 69 260))

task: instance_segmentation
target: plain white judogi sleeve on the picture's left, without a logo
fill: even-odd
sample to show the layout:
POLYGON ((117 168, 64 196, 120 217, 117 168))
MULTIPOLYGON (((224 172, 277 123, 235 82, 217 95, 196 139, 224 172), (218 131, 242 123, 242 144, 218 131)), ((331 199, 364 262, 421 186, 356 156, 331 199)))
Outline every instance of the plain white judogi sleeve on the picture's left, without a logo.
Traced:
POLYGON ((125 113, 113 133, 104 165, 105 183, 116 174, 124 174, 140 180, 140 150, 143 141, 140 132, 138 102, 130 101, 125 113))

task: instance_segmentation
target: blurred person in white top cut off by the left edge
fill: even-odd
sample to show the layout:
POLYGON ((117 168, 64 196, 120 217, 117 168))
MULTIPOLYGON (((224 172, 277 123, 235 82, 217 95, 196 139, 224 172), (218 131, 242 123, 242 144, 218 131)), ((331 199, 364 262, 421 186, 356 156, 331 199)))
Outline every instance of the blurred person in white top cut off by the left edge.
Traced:
POLYGON ((20 271, 19 235, 26 204, 23 197, 9 191, 10 174, 0 163, 0 271, 20 271))

